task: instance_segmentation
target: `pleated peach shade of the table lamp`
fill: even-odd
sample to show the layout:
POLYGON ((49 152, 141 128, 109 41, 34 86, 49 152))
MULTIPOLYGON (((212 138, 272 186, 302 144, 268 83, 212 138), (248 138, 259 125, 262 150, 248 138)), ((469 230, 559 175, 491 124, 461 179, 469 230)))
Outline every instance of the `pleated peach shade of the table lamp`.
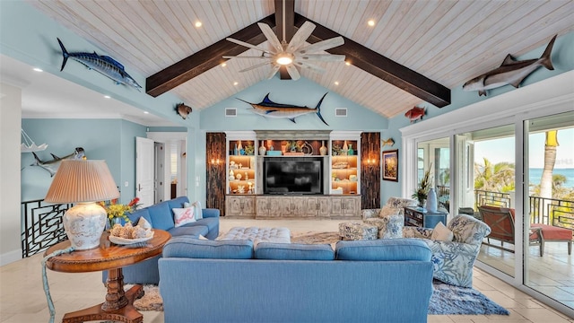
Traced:
POLYGON ((105 161, 64 160, 44 201, 85 203, 117 197, 119 191, 105 161))

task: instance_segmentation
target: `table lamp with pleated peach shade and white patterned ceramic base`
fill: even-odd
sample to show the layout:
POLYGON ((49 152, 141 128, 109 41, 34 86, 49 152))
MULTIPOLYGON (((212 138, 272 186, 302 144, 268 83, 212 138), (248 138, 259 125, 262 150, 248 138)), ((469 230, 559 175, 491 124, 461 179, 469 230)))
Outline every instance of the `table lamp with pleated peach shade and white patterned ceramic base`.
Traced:
POLYGON ((95 202, 119 197, 105 161, 64 160, 44 201, 74 203, 63 217, 65 234, 78 250, 100 246, 108 214, 95 202))

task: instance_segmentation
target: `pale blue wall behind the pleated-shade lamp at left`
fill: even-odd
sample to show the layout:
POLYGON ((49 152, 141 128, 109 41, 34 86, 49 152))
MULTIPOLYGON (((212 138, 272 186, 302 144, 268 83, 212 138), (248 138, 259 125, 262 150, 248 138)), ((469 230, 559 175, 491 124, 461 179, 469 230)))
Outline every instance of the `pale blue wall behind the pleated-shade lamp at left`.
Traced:
MULTIPOLYGON (((22 119, 22 129, 36 144, 48 144, 37 152, 49 161, 50 153, 63 157, 83 147, 90 160, 105 160, 121 192, 120 201, 135 196, 135 136, 145 137, 145 127, 121 119, 22 119), (124 187, 123 183, 129 186, 124 187)), ((52 183, 47 170, 30 166, 32 153, 22 153, 22 201, 43 199, 52 183)))

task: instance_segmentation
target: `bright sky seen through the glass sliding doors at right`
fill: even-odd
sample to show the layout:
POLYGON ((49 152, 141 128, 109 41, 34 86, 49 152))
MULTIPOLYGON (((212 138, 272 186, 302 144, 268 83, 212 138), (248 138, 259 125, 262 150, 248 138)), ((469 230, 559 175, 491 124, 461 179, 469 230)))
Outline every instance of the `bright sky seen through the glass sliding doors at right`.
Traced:
MULTIPOLYGON (((530 135, 529 164, 530 168, 544 167, 544 132, 530 135)), ((574 128, 558 131, 558 148, 554 168, 574 169, 574 128)), ((514 137, 492 139, 474 143, 474 160, 482 162, 486 157, 491 163, 515 162, 514 137)))

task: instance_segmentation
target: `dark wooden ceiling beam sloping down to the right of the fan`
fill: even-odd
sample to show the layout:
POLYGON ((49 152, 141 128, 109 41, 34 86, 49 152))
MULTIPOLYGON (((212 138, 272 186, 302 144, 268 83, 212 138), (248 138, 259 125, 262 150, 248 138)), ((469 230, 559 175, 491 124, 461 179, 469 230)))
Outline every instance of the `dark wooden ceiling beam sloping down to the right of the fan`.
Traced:
MULTIPOLYGON (((306 22, 313 22, 308 18, 295 13, 295 27, 300 26, 306 22)), ((341 36, 335 31, 313 22, 317 27, 311 34, 307 41, 315 43, 324 39, 331 39, 341 36)), ((394 60, 384 57, 374 50, 366 48, 361 44, 352 41, 346 37, 344 38, 344 45, 328 49, 327 52, 331 54, 341 54, 345 56, 345 61, 349 61, 352 65, 357 66, 377 76, 378 78, 391 83, 399 89, 409 92, 414 96, 425 100, 436 107, 442 108, 450 104, 450 89, 446 86, 434 82, 426 76, 414 72, 412 69, 396 63, 394 60)))

